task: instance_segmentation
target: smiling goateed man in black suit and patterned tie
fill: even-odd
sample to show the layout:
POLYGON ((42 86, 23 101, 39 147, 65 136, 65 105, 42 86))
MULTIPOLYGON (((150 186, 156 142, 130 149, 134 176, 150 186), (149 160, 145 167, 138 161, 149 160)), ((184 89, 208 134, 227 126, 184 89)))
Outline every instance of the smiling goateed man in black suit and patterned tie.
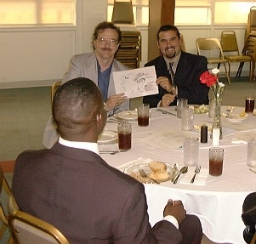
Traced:
POLYGON ((191 105, 208 105, 209 88, 199 80, 208 70, 208 61, 203 56, 183 52, 181 43, 175 26, 162 26, 158 30, 157 45, 162 55, 145 64, 155 66, 159 88, 158 94, 143 99, 151 107, 176 105, 177 98, 188 99, 191 105))

